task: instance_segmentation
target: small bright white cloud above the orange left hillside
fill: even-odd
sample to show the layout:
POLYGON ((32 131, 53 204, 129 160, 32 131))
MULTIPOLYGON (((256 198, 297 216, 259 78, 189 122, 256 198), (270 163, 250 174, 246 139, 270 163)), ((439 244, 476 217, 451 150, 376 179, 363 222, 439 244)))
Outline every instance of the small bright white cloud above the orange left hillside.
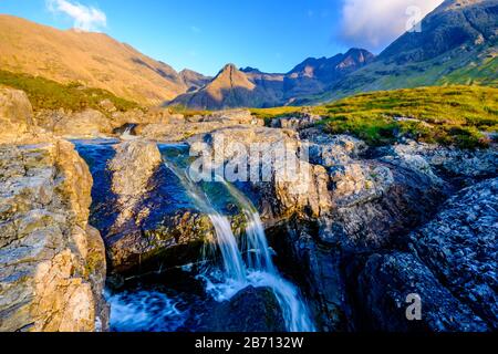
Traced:
POLYGON ((74 28, 82 31, 97 31, 107 25, 107 17, 94 7, 68 0, 46 0, 50 11, 64 13, 74 21, 74 28))

